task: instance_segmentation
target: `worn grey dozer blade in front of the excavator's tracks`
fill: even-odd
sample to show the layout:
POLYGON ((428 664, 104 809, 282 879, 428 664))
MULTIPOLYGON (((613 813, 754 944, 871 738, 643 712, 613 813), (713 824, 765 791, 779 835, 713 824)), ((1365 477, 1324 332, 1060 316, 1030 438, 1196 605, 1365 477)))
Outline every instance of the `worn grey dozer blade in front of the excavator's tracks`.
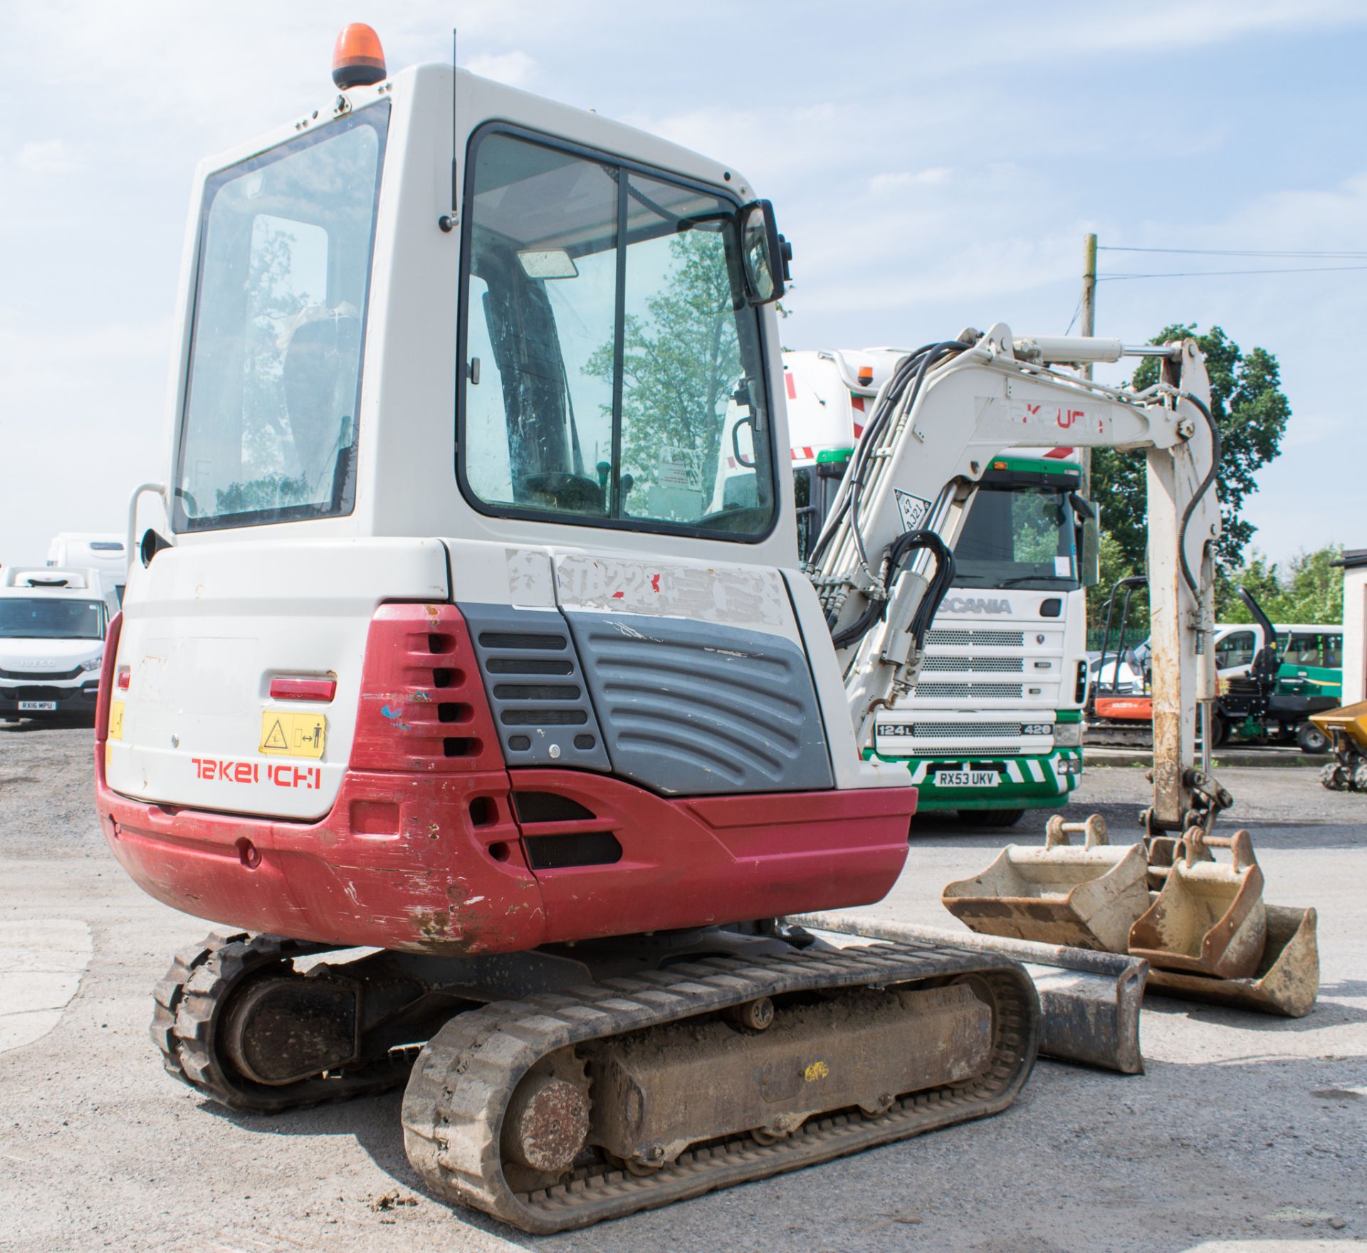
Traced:
POLYGON ((787 922, 865 940, 998 952, 1024 963, 1039 995, 1039 1051, 1046 1058, 1143 1074, 1139 1011, 1148 962, 1118 952, 1007 940, 940 926, 876 922, 843 914, 791 914, 787 922))

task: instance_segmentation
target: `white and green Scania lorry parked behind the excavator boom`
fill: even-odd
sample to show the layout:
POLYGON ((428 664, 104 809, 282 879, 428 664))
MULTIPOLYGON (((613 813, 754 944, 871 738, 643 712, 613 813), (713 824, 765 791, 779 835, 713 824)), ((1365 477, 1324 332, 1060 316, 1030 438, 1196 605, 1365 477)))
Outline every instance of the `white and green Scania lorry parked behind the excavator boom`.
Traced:
MULTIPOLYGON (((783 357, 804 559, 879 388, 905 355, 783 357)), ((905 762, 920 812, 1010 825, 1025 809, 1066 803, 1081 779, 1084 588, 1096 549, 1084 538, 1095 521, 1080 480, 1072 447, 1007 448, 979 480, 921 676, 875 724, 871 754, 905 762)))

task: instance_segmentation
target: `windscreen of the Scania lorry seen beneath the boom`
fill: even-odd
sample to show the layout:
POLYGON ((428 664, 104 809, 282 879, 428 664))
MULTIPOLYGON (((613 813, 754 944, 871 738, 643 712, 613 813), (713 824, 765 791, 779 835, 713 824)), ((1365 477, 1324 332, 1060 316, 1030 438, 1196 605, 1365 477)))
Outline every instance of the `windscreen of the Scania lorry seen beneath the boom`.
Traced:
POLYGON ((961 588, 1070 592, 1080 586, 1068 493, 980 486, 954 545, 954 570, 961 588))

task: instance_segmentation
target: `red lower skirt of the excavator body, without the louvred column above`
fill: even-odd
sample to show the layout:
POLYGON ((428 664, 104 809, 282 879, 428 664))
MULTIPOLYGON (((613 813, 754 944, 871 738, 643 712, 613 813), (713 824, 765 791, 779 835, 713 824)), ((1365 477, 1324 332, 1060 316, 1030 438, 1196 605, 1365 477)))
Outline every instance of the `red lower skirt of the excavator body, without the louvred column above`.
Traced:
MULTIPOLYGON (((320 823, 130 801, 104 780, 105 839, 146 892, 227 926, 332 944, 515 952, 559 940, 868 905, 906 858, 912 788, 670 801, 570 771, 349 772, 320 823), (522 823, 510 791, 592 820, 522 823), (533 872, 525 840, 610 832, 611 862, 533 872)), ((534 844, 533 844, 534 847, 534 844)))

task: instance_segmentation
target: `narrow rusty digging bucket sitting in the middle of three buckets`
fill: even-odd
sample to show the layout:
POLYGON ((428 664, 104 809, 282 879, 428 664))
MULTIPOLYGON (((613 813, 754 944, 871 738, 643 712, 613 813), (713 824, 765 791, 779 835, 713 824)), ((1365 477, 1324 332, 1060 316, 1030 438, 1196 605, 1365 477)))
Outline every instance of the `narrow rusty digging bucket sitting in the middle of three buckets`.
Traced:
POLYGON ((1162 891, 1129 931, 1129 951, 1154 970, 1215 978, 1247 978, 1258 969, 1267 936, 1263 872, 1252 838, 1187 832, 1163 876, 1162 891), (1218 862, 1210 849, 1229 849, 1218 862))

